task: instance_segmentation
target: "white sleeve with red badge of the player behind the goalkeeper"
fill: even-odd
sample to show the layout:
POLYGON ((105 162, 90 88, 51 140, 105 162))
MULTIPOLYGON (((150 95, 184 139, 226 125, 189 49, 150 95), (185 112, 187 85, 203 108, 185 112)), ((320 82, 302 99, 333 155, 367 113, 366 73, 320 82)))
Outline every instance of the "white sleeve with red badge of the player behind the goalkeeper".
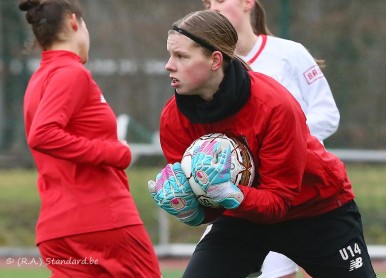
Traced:
POLYGON ((339 110, 321 68, 303 45, 297 45, 299 47, 291 59, 296 60, 292 62, 295 78, 302 98, 307 103, 304 113, 311 134, 323 141, 338 129, 339 110))

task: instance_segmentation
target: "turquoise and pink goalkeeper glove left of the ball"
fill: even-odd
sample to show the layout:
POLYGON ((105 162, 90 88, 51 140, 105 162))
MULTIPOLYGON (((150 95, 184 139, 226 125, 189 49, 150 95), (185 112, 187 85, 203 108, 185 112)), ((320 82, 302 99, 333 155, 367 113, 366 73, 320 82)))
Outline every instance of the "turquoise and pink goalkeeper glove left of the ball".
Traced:
POLYGON ((150 180, 148 188, 157 205, 190 226, 200 225, 205 218, 204 209, 198 203, 180 163, 168 164, 150 180))

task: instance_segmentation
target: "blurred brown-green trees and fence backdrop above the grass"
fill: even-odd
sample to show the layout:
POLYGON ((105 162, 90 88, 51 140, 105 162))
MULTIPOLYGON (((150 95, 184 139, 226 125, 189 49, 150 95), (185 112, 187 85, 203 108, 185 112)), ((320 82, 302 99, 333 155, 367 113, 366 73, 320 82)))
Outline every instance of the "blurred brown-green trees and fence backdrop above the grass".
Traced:
MULTIPOLYGON (((200 0, 81 0, 91 36, 87 67, 117 115, 132 119, 129 141, 149 140, 173 94, 164 65, 167 31, 200 0)), ((0 3, 0 166, 30 165, 22 102, 40 52, 16 0, 0 3)), ((324 59, 341 121, 330 148, 386 148, 386 1, 262 0, 268 26, 324 59)))

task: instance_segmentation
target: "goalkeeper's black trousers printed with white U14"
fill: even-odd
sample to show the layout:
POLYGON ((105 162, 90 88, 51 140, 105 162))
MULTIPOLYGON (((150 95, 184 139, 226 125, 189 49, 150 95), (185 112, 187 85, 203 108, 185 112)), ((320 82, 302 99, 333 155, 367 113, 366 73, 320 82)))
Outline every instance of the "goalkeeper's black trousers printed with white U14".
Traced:
POLYGON ((198 243, 183 278, 245 278, 269 251, 282 253, 314 278, 373 278, 354 201, 326 214, 278 224, 220 217, 198 243))

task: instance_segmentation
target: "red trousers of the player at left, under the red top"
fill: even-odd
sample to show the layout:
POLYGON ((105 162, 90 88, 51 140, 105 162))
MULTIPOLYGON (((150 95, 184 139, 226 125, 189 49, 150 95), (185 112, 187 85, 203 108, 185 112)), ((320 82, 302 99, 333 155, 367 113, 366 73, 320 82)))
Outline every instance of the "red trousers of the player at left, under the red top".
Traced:
POLYGON ((52 278, 161 277, 143 225, 47 240, 38 247, 52 278))

